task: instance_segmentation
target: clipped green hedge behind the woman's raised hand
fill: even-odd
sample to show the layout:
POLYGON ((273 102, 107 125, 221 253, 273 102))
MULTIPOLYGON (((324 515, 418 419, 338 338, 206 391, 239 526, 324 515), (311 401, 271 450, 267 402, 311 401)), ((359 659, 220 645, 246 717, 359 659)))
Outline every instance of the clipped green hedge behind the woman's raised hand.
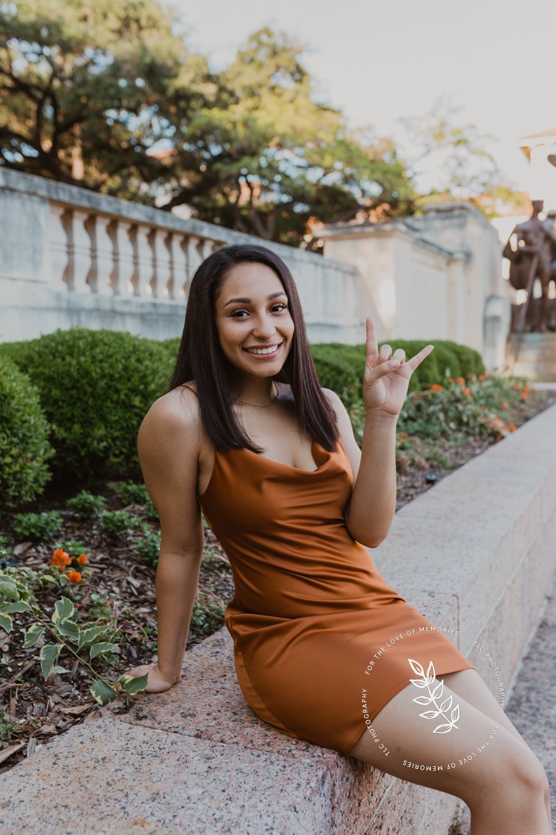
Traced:
MULTIPOLYGON (((408 359, 428 344, 434 346, 434 351, 413 372, 409 382, 410 392, 428 388, 433 383, 442 383, 446 371, 449 371, 452 377, 467 377, 468 374, 481 374, 484 371, 481 355, 473 348, 458 345, 456 342, 440 339, 430 342, 395 339, 388 342, 393 351, 403 348, 408 359)), ((312 345, 311 353, 323 387, 338 392, 343 396, 346 405, 361 397, 366 357, 364 345, 323 343, 312 345)))

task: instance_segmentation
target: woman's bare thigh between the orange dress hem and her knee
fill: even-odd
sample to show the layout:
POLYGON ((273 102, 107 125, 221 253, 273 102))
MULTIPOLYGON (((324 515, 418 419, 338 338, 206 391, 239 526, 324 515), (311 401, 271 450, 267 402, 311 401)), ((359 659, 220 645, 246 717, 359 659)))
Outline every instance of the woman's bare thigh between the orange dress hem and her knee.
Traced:
MULTIPOLYGON (((463 690, 460 681, 456 685, 463 690)), ((476 701, 476 682, 465 682, 465 686, 476 701)), ((444 709, 448 718, 458 707, 458 718, 450 731, 442 732, 440 728, 434 732, 438 724, 446 724, 446 719, 420 716, 434 705, 413 701, 416 689, 408 686, 383 707, 350 755, 394 777, 461 797, 469 805, 483 794, 486 800, 498 792, 506 793, 509 785, 520 779, 527 782, 529 775, 538 780, 537 758, 515 736, 515 729, 512 732, 503 725, 505 717, 493 709, 496 700, 494 706, 488 705, 493 714, 490 716, 450 690, 445 682, 442 704, 450 696, 452 702, 444 709)))

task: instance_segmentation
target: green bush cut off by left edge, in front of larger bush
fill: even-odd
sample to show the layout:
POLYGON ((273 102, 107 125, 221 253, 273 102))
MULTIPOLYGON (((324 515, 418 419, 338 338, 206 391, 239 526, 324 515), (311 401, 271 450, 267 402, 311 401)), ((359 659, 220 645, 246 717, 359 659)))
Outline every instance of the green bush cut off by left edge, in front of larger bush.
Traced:
POLYGON ((0 355, 0 503, 30 502, 43 493, 53 454, 37 389, 0 355))

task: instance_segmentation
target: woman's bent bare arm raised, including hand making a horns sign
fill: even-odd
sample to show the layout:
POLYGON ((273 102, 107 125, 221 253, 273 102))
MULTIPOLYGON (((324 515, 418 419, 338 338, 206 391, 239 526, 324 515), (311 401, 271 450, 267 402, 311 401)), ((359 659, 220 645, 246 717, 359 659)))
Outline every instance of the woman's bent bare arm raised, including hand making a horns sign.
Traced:
POLYGON ((377 548, 386 539, 392 524, 396 510, 396 423, 408 392, 409 378, 432 350, 433 346, 428 345, 409 362, 405 362, 401 349, 392 356, 392 349, 383 345, 378 352, 374 322, 369 318, 361 453, 345 409, 336 407, 340 438, 351 461, 354 480, 344 514, 346 525, 353 539, 368 548, 377 548))

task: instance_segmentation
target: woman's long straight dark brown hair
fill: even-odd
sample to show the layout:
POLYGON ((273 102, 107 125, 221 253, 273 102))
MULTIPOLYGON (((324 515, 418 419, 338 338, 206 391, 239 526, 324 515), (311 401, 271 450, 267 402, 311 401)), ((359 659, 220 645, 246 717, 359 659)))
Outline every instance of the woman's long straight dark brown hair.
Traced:
POLYGON ((339 437, 336 415, 318 382, 298 291, 288 267, 264 246, 225 246, 199 266, 189 289, 182 342, 169 389, 196 382, 203 425, 216 447, 262 452, 247 437, 233 412, 232 387, 234 383, 241 385, 241 373, 222 350, 214 316, 214 303, 224 279, 233 266, 244 263, 269 266, 282 282, 295 329, 288 357, 274 379, 291 387, 300 431, 331 452, 339 437))

